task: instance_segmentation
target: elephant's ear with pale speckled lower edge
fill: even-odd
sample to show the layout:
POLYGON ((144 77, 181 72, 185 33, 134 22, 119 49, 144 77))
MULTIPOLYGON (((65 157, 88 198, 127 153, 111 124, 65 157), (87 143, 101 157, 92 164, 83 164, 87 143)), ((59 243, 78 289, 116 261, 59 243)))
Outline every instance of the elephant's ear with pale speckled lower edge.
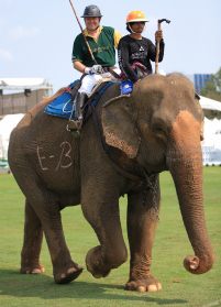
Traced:
POLYGON ((132 120, 132 103, 129 95, 113 98, 102 107, 102 128, 106 142, 134 158, 140 147, 140 136, 132 120))

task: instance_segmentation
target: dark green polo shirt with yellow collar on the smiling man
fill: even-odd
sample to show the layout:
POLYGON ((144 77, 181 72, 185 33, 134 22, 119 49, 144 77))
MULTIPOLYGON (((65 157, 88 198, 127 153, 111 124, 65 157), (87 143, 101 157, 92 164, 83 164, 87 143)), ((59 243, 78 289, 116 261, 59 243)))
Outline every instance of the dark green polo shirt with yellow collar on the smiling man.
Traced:
MULTIPOLYGON (((87 29, 84 30, 84 33, 97 63, 101 66, 114 66, 114 47, 118 48, 121 34, 111 26, 100 25, 99 31, 100 34, 98 40, 90 36, 87 29)), ((81 33, 75 39, 71 59, 73 62, 81 62, 87 67, 92 67, 92 65, 95 65, 81 33)))

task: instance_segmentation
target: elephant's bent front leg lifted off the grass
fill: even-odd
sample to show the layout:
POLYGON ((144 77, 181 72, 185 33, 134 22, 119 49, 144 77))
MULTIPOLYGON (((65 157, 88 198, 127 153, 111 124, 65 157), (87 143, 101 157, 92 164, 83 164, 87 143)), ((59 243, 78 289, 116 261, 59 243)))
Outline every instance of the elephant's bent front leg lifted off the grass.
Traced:
POLYGON ((81 207, 86 219, 97 233, 100 245, 88 252, 86 265, 93 277, 100 278, 108 276, 112 268, 124 263, 128 260, 128 251, 121 230, 118 196, 113 195, 114 190, 102 190, 100 186, 100 193, 92 190, 95 188, 90 188, 89 185, 84 188, 81 207))

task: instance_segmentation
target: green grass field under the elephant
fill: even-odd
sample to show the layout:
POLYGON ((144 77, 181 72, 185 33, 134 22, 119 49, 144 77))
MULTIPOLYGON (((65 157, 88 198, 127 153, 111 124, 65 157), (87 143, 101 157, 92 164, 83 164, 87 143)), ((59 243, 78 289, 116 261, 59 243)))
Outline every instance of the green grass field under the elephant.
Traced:
MULTIPOLYGON (((113 270, 107 278, 96 279, 85 268, 75 282, 56 285, 45 240, 41 253, 45 273, 20 274, 24 197, 12 175, 0 174, 0 306, 221 306, 221 167, 205 167, 203 174, 206 218, 216 251, 216 264, 203 275, 191 275, 184 268, 184 257, 194 252, 183 224, 172 177, 169 173, 163 173, 161 223, 156 232, 152 267, 153 275, 163 286, 157 293, 124 289, 129 261, 113 270)), ((121 198, 120 208, 128 244, 126 197, 121 198)), ((98 244, 97 237, 82 217, 80 206, 66 208, 62 215, 71 256, 86 267, 85 256, 90 248, 98 244)))

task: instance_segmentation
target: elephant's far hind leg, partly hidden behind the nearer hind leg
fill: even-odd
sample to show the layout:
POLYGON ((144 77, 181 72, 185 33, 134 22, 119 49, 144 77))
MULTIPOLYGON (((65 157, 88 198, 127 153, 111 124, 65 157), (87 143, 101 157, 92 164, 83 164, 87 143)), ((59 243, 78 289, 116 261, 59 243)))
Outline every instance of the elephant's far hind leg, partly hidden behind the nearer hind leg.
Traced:
POLYGON ((29 204, 25 201, 25 221, 24 221, 24 242, 21 253, 22 274, 44 273, 44 266, 40 263, 40 253, 42 249, 43 229, 42 223, 29 204))

